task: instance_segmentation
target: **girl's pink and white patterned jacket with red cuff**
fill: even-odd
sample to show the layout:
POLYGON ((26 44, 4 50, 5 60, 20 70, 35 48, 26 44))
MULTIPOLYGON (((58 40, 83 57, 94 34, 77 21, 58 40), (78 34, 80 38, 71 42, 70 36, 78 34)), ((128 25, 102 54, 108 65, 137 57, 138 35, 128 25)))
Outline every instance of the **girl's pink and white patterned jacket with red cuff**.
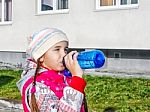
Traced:
MULTIPOLYGON (((30 112, 35 68, 36 64, 29 60, 22 78, 17 82, 25 112, 30 112)), ((35 97, 40 112, 85 112, 85 86, 85 80, 80 77, 66 77, 54 70, 40 68, 35 86, 35 97)))

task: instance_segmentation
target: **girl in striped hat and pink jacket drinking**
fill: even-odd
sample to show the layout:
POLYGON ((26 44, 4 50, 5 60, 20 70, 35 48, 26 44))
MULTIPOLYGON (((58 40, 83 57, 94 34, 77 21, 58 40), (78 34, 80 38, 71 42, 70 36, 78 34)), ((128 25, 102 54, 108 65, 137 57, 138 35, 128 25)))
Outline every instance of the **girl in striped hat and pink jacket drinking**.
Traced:
POLYGON ((68 38, 56 28, 46 28, 30 38, 30 59, 17 82, 25 112, 86 112, 85 80, 77 51, 67 54, 68 38), (67 69, 72 76, 63 75, 67 69))

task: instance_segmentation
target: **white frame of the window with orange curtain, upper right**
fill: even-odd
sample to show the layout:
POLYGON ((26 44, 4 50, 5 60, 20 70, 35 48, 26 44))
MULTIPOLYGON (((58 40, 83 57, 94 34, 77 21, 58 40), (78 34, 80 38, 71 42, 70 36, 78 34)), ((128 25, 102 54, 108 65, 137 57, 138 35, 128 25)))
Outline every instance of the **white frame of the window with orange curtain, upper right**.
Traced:
POLYGON ((130 4, 130 5, 120 5, 120 0, 116 2, 115 6, 99 6, 100 0, 95 0, 95 9, 94 11, 103 11, 103 10, 120 10, 120 9, 136 9, 139 8, 139 0, 138 4, 130 4))

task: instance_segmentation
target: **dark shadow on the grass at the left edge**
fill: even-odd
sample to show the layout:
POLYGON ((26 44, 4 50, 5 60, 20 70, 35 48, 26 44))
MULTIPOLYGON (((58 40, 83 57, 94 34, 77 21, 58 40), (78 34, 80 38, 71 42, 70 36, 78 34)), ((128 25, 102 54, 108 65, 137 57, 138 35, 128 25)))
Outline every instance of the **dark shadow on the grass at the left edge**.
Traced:
POLYGON ((8 84, 14 79, 12 76, 0 76, 0 87, 8 84))

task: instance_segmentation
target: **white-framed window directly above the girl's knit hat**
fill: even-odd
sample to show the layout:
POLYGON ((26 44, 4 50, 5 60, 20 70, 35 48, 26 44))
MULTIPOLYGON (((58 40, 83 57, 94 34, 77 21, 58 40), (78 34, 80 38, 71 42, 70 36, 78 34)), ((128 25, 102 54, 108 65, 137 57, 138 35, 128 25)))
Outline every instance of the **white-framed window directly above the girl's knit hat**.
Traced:
POLYGON ((38 0, 38 13, 59 13, 68 10, 68 0, 38 0))

